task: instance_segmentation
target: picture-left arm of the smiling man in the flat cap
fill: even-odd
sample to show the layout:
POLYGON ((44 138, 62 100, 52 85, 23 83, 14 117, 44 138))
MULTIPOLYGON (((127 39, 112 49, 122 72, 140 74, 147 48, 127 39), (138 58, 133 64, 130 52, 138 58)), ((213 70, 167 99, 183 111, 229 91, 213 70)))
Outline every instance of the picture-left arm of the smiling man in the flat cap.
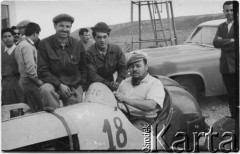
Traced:
POLYGON ((57 76, 50 72, 47 49, 43 42, 38 45, 38 76, 44 83, 50 83, 55 89, 59 90, 61 82, 57 76))

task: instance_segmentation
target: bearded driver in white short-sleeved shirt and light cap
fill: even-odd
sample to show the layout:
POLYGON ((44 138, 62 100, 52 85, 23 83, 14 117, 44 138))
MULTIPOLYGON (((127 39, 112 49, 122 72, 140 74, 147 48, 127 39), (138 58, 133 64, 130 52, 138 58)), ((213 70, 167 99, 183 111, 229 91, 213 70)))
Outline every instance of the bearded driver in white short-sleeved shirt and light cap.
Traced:
POLYGON ((147 58, 133 54, 127 61, 130 77, 123 80, 114 93, 119 108, 129 112, 130 121, 139 129, 151 124, 163 107, 165 91, 161 81, 148 73, 147 58), (128 109, 127 109, 128 108, 128 109))

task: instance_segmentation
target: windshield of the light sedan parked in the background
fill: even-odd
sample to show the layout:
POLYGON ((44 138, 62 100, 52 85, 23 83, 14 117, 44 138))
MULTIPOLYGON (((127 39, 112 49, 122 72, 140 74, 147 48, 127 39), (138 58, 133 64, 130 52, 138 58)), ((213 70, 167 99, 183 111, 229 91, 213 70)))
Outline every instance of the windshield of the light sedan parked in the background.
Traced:
POLYGON ((217 27, 198 27, 187 43, 205 44, 213 46, 213 39, 216 35, 217 27))

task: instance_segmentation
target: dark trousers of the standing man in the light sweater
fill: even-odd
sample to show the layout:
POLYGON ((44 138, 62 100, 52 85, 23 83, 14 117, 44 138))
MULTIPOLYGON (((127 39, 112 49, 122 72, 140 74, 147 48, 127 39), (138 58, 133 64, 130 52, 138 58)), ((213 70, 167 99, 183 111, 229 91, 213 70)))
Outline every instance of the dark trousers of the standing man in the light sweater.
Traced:
POLYGON ((40 98, 39 87, 28 77, 20 77, 20 88, 24 94, 24 102, 26 102, 32 113, 42 111, 43 104, 40 98))

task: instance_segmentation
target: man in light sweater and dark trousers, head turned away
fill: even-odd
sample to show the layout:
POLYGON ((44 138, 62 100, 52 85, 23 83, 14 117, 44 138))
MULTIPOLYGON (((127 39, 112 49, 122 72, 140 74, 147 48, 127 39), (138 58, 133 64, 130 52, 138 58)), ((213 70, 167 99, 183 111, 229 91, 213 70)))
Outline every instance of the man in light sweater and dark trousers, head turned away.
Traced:
POLYGON ((43 110, 39 91, 39 87, 43 85, 43 82, 38 79, 37 49, 34 46, 40 31, 38 24, 30 22, 25 28, 26 37, 20 40, 15 53, 20 73, 19 84, 31 112, 43 110))

